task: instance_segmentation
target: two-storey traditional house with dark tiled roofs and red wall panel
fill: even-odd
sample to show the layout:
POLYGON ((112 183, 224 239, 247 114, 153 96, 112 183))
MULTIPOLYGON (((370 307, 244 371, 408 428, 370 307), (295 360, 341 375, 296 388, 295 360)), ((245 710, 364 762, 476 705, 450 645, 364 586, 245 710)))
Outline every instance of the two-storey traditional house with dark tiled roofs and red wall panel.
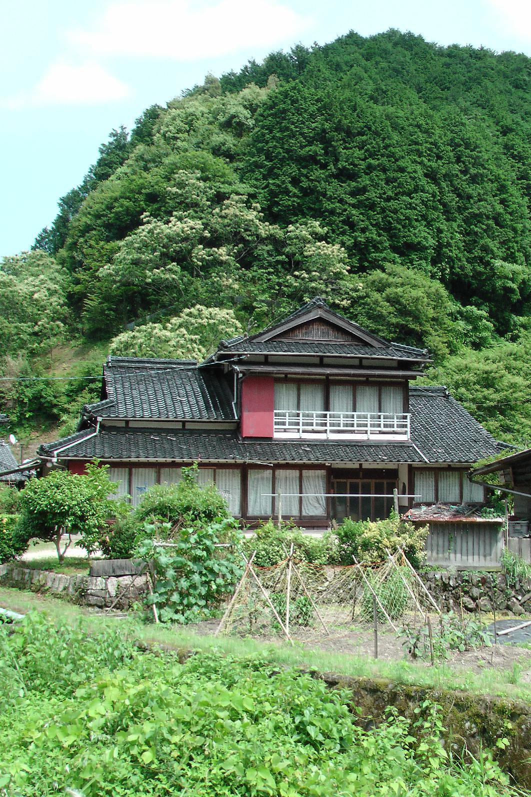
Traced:
POLYGON ((109 357, 79 431, 38 453, 78 473, 97 457, 134 505, 198 462, 251 523, 277 513, 278 493, 306 528, 388 516, 394 489, 403 511, 482 501, 466 474, 498 444, 445 387, 415 385, 429 362, 317 298, 204 363, 109 357))

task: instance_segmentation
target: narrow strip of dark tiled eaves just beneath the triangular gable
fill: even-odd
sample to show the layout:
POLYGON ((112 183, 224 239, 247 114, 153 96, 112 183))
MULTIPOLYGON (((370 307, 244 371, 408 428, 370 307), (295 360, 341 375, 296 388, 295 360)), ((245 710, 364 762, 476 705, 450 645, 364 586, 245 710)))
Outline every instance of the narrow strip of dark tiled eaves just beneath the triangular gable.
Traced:
POLYGON ((421 349, 411 349, 400 344, 374 347, 348 343, 328 343, 326 340, 251 340, 240 338, 230 344, 221 341, 220 348, 233 354, 311 354, 342 357, 375 357, 391 359, 428 359, 421 349))

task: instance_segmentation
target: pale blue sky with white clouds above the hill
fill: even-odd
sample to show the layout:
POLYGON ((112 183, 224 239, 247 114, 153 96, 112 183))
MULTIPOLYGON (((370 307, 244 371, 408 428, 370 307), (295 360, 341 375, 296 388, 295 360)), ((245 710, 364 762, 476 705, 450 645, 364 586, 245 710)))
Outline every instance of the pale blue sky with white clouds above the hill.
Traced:
POLYGON ((531 54, 529 0, 3 0, 0 254, 28 249, 111 128, 271 49, 390 27, 531 54))

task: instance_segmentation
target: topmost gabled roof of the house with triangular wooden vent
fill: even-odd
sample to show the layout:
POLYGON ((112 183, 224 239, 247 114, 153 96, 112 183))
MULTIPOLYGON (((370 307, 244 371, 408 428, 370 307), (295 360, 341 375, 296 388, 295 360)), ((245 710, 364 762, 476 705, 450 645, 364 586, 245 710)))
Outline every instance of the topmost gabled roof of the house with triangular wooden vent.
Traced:
POLYGON ((430 359, 427 349, 392 344, 331 310, 320 296, 255 335, 221 340, 217 355, 227 351, 235 354, 307 353, 343 357, 386 357, 422 362, 430 359), (311 322, 318 324, 312 325, 311 322), (296 335, 297 328, 303 334, 296 335), (312 338, 312 334, 316 333, 317 337, 312 338))

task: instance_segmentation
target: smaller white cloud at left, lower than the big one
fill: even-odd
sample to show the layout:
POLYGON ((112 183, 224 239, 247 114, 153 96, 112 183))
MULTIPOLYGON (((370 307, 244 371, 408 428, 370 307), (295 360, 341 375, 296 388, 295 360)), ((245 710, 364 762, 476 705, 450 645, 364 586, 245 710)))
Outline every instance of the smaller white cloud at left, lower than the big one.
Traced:
POLYGON ((5 100, 8 108, 28 105, 97 105, 123 100, 131 88, 113 77, 103 66, 91 61, 75 64, 61 59, 49 65, 41 80, 29 92, 5 100))

